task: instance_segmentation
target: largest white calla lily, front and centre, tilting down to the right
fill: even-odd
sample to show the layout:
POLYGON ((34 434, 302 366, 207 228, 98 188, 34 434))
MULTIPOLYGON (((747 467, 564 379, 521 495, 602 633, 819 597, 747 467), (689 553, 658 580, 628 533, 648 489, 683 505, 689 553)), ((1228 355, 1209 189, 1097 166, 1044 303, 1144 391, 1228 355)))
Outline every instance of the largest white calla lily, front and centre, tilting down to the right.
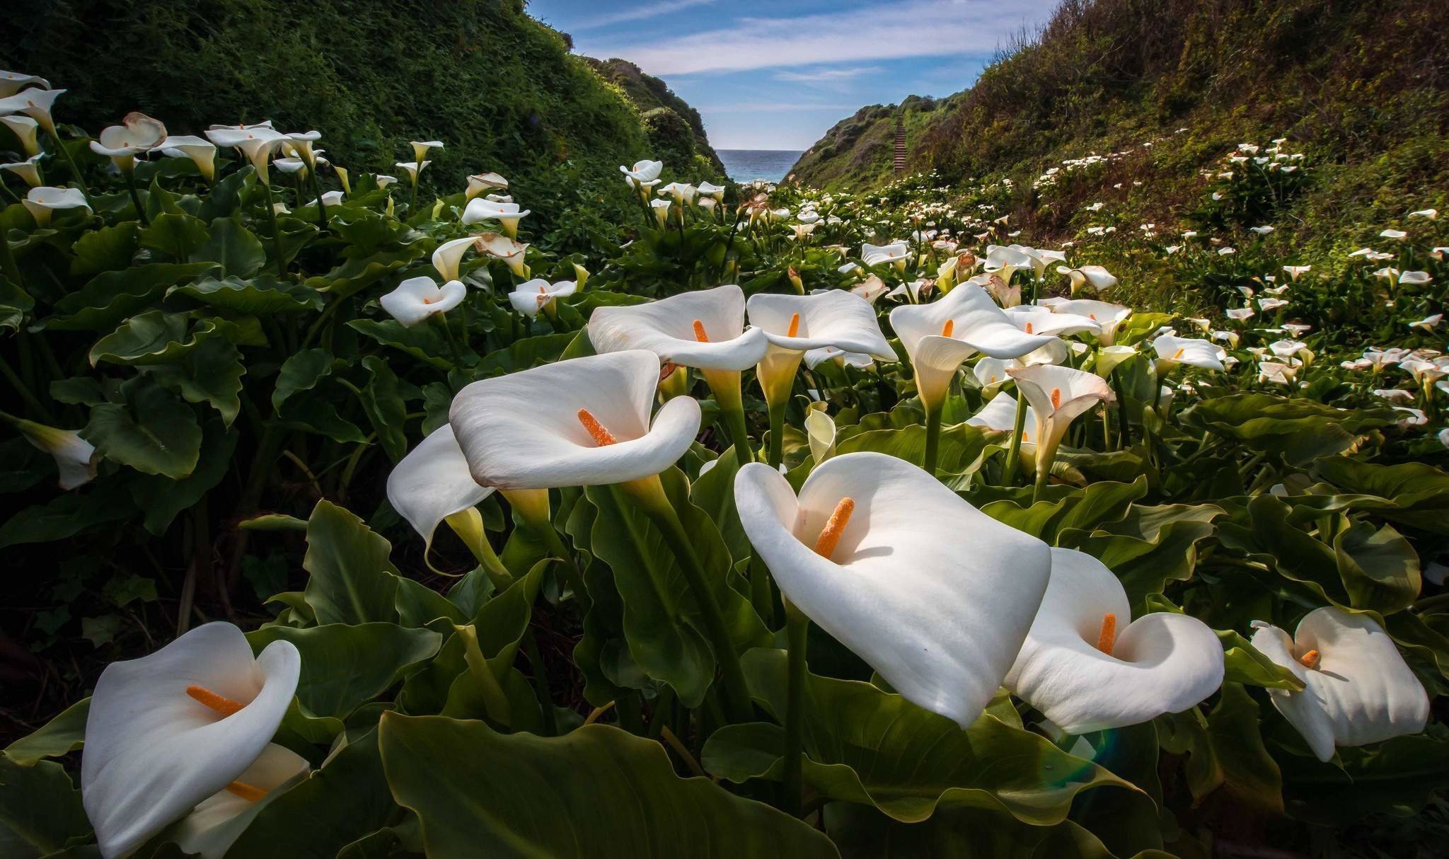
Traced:
POLYGON ((775 469, 746 465, 735 504, 791 604, 906 700, 975 721, 1046 591, 1045 543, 884 453, 829 458, 798 497, 775 469))

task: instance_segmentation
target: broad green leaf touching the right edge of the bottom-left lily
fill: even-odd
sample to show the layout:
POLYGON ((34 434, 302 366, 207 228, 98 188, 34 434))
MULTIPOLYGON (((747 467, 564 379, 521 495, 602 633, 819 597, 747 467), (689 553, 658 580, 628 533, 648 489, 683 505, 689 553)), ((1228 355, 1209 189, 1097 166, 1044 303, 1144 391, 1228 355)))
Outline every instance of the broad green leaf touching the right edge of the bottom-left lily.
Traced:
POLYGON ((246 640, 258 653, 275 640, 296 645, 301 653, 297 700, 313 716, 346 718, 436 655, 442 636, 394 623, 329 623, 307 629, 268 626, 248 633, 246 640))

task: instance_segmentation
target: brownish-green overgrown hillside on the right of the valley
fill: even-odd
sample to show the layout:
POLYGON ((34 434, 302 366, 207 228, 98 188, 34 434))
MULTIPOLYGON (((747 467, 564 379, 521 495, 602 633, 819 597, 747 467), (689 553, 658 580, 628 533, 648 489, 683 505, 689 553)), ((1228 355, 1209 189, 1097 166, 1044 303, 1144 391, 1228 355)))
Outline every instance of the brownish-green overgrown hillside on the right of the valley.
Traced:
MULTIPOLYGON (((1030 184, 1062 159, 1188 127, 1081 190, 1087 201, 1145 180, 1151 193, 1133 194, 1129 181, 1111 203, 1123 219, 1164 226, 1191 209, 1198 171, 1236 142, 1287 135, 1319 168, 1278 240, 1327 249, 1364 240, 1368 226, 1406 209, 1446 207, 1446 70, 1449 41, 1429 0, 1068 0, 1037 41, 974 87, 930 112, 907 109, 910 169, 948 181, 1011 177, 1016 223, 1049 240, 1072 235, 1078 200, 1040 210, 1030 184)), ((801 159, 797 181, 865 187, 890 177, 890 146, 877 141, 890 141, 894 114, 862 113, 801 159)))

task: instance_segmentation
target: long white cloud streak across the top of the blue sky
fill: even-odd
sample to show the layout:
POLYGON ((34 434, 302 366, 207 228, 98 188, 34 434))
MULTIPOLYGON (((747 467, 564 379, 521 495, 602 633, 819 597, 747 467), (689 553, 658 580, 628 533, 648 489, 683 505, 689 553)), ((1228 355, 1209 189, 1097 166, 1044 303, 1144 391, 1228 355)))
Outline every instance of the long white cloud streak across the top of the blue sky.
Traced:
POLYGON ((729 28, 588 45, 587 52, 623 56, 653 75, 980 55, 998 49, 1024 25, 1045 20, 1055 6, 1056 0, 900 0, 833 14, 742 17, 729 28))

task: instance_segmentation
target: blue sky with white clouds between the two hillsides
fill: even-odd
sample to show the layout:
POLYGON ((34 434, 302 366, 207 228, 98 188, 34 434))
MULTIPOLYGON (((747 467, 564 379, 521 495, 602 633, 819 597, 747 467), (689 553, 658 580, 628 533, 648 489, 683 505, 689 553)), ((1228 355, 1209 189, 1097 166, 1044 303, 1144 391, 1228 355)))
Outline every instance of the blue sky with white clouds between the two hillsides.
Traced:
POLYGON ((1056 0, 529 0, 574 51, 622 56, 719 149, 804 149, 864 104, 962 90, 1056 0))

